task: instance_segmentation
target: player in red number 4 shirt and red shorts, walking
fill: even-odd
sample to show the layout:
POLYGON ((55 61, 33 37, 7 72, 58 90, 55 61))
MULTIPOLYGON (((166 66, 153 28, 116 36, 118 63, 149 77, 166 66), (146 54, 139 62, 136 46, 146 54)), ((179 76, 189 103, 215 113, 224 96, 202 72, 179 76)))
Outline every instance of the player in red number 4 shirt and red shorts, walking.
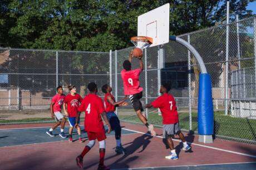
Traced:
MULTIPOLYGON (((83 168, 83 157, 94 146, 95 140, 97 139, 100 147, 100 163, 98 170, 106 170, 109 169, 104 165, 106 134, 101 116, 109 127, 109 131, 107 133, 111 132, 111 126, 106 116, 104 104, 101 98, 96 94, 98 91, 97 85, 92 82, 88 84, 87 88, 90 93, 83 99, 78 110, 80 112, 85 111, 85 130, 88 134, 89 142, 86 144, 82 153, 77 156, 76 163, 78 167, 83 168)), ((78 125, 80 112, 77 113, 75 126, 78 125)))

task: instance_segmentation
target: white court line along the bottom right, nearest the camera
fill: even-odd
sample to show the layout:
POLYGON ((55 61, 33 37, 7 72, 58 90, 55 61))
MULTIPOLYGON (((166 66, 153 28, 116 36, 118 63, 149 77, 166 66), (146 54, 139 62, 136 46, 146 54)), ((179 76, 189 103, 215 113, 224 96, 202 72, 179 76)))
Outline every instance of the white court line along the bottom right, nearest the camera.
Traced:
POLYGON ((163 166, 163 167, 144 167, 144 168, 122 168, 122 169, 112 169, 112 170, 132 170, 132 169, 152 169, 152 168, 173 168, 173 167, 199 167, 199 166, 215 166, 215 165, 225 165, 225 164, 248 164, 256 162, 234 162, 234 163, 214 163, 214 164, 194 164, 185 166, 163 166))

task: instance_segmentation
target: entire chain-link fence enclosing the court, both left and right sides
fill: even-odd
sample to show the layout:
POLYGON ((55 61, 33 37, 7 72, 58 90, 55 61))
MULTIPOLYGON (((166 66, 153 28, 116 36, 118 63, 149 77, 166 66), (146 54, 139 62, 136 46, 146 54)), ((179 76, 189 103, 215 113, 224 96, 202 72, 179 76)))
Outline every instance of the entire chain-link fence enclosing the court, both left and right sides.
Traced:
MULTIPOLYGON (((256 18, 179 37, 198 50, 211 75, 215 137, 256 143, 256 18)), ((50 100, 57 85, 67 93, 66 87, 73 84, 85 96, 88 82, 96 82, 99 89, 109 83, 119 101, 124 97, 122 62, 131 49, 110 53, 0 49, 0 124, 51 121, 50 100)), ((169 42, 144 49, 143 62, 142 104, 160 95, 161 83, 171 82, 181 128, 197 132, 200 68, 193 54, 169 42)), ((136 58, 132 67, 139 67, 136 58)), ((99 95, 103 96, 100 90, 99 95)), ((140 123, 131 104, 117 113, 122 121, 140 123)), ((157 109, 145 109, 145 114, 150 123, 162 126, 157 109)))

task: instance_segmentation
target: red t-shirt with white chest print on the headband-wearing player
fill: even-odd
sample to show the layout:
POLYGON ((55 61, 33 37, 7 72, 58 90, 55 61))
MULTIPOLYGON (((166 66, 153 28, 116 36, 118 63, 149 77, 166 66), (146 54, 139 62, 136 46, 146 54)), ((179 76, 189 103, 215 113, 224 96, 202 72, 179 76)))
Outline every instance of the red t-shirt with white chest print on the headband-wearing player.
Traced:
POLYGON ((76 117, 78 107, 82 103, 82 97, 79 94, 72 96, 70 93, 65 97, 64 103, 67 103, 68 117, 76 117))

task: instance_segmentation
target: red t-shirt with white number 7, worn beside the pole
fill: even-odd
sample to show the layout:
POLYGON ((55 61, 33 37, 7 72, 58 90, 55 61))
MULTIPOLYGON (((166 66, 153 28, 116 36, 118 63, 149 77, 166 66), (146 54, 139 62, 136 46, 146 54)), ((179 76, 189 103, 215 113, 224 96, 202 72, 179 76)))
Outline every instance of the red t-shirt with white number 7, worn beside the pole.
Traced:
POLYGON ((163 116, 163 124, 174 124, 179 122, 176 102, 171 94, 163 94, 155 99, 151 105, 160 109, 163 116))

